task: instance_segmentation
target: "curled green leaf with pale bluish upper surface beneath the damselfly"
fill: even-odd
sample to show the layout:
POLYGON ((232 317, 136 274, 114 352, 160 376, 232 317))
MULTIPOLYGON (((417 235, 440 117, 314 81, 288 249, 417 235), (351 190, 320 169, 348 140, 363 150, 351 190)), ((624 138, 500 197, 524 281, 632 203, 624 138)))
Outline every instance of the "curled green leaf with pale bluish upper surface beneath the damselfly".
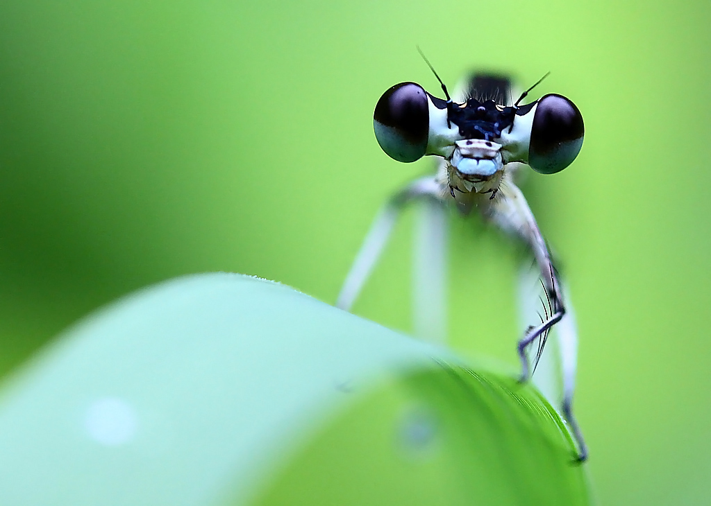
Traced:
POLYGON ((587 504, 532 387, 242 275, 131 295, 1 395, 0 504, 587 504))

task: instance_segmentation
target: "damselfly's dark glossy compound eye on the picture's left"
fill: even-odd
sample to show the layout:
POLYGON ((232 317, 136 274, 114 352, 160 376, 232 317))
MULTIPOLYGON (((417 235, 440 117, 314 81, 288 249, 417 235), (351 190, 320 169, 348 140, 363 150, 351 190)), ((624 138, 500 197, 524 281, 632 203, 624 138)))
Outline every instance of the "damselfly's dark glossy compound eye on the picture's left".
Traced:
POLYGON ((380 97, 373 115, 375 138, 398 162, 414 162, 427 150, 429 103, 419 84, 401 82, 380 97))

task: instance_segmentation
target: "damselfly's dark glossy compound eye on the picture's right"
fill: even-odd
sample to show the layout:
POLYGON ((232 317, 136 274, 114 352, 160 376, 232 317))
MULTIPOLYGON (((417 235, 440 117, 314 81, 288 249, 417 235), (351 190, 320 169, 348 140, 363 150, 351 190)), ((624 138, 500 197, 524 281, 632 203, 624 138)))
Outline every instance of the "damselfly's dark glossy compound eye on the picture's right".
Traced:
POLYGON ((584 133, 582 114, 572 101, 561 95, 545 95, 533 116, 528 165, 541 174, 560 172, 580 152, 584 133))

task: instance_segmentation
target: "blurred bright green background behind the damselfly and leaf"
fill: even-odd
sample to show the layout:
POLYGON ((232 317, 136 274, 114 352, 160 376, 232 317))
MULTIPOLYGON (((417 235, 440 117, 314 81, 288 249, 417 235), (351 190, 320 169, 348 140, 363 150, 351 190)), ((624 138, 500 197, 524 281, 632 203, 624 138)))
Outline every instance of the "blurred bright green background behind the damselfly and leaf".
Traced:
MULTIPOLYGON (((577 412, 606 505, 711 495, 711 4, 0 4, 0 373, 101 304, 184 273, 333 302, 403 165, 385 89, 552 75, 586 138, 524 188, 570 282, 577 412)), ((451 343, 515 363, 517 253, 452 216, 451 343)), ((410 330, 412 213, 355 312, 410 330)))

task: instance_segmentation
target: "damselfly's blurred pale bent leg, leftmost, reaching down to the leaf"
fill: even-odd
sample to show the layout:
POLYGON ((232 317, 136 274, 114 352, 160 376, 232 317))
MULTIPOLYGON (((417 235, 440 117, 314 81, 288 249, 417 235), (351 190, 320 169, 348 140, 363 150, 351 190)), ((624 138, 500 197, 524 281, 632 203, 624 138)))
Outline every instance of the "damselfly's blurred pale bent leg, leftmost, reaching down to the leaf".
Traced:
POLYGON ((343 287, 341 287, 341 293, 338 294, 338 299, 336 299, 336 307, 346 309, 346 311, 351 309, 353 302, 360 294, 360 290, 363 289, 365 281, 368 280, 375 264, 378 263, 380 254, 383 253, 385 244, 390 238, 392 228, 395 226, 402 209, 412 199, 418 197, 431 196, 441 199, 440 193, 440 186, 434 180, 434 177, 422 177, 411 182, 390 198, 385 207, 380 209, 378 216, 375 216, 368 235, 365 236, 363 245, 360 246, 358 255, 355 256, 351 270, 348 271, 343 287))

